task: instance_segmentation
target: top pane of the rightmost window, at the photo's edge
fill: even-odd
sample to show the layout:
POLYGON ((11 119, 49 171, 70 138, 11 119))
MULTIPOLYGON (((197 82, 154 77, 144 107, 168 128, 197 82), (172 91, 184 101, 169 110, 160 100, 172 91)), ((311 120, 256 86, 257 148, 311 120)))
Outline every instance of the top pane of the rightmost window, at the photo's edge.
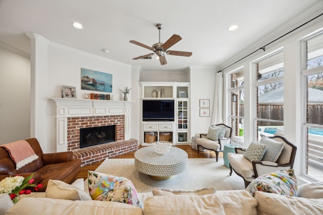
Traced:
POLYGON ((306 46, 306 68, 323 66, 323 35, 308 40, 306 46))

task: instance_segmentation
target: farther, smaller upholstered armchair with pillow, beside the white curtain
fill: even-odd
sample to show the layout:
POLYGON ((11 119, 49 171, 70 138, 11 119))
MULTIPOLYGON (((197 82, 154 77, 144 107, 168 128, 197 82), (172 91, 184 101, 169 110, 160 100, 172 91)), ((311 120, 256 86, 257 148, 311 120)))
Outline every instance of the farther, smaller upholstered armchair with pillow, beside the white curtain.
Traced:
POLYGON ((200 147, 211 150, 216 153, 218 162, 219 152, 223 152, 224 145, 231 143, 232 127, 225 124, 211 125, 207 133, 200 134, 200 138, 196 139, 197 153, 200 147))

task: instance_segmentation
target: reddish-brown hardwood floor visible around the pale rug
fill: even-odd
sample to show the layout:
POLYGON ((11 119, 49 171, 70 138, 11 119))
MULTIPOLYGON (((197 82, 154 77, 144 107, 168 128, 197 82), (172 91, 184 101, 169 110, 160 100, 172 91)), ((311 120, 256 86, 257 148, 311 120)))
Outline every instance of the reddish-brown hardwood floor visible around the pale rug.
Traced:
MULTIPOLYGON (((184 150, 185 152, 187 152, 188 158, 214 158, 214 162, 216 159, 216 153, 214 153, 213 151, 205 151, 205 152, 199 152, 197 153, 197 150, 193 150, 191 148, 191 146, 189 145, 177 145, 175 147, 178 147, 182 150, 184 150)), ((142 146, 140 146, 139 148, 142 148, 142 146)), ((120 155, 118 157, 112 158, 112 159, 120 159, 120 158, 135 158, 134 156, 135 152, 131 152, 131 153, 127 153, 125 155, 120 155)), ((219 157, 222 157, 222 153, 219 154, 219 157)), ((89 170, 94 171, 103 161, 91 164, 91 165, 87 165, 84 167, 81 167, 81 171, 79 172, 79 174, 76 176, 75 179, 77 178, 84 178, 84 180, 87 178, 87 172, 89 170)))

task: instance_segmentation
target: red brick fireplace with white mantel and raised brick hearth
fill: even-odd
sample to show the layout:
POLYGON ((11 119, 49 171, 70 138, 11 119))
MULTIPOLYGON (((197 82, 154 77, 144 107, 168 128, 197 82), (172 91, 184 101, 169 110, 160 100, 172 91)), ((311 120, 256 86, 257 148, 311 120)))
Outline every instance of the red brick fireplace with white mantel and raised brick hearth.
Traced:
POLYGON ((131 139, 131 103, 124 101, 50 98, 57 106, 57 152, 72 151, 82 166, 136 151, 139 142, 131 139), (80 148, 80 128, 115 125, 116 140, 80 148))

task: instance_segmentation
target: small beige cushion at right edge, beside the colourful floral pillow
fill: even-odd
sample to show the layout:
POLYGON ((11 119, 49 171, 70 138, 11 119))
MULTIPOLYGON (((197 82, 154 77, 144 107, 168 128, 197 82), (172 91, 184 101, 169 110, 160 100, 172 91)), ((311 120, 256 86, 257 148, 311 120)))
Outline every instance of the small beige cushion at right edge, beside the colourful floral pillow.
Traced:
POLYGON ((297 196, 304 198, 323 198, 323 182, 313 182, 298 186, 297 196))

